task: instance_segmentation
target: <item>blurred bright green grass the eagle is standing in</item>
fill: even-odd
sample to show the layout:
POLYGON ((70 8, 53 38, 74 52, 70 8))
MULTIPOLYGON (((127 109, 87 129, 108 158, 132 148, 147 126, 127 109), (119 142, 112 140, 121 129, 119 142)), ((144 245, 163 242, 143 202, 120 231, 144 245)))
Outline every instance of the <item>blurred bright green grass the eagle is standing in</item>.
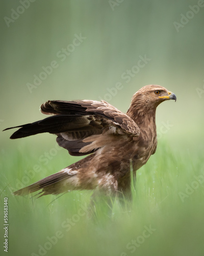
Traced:
POLYGON ((168 144, 159 142, 156 154, 138 170, 132 202, 99 197, 94 206, 92 191, 39 199, 14 197, 11 192, 17 179, 26 176, 25 169, 37 162, 43 169, 27 177, 31 184, 77 158, 60 151, 43 165, 38 161, 43 148, 2 151, 0 217, 2 223, 4 197, 8 197, 7 255, 203 255, 203 150, 168 144))

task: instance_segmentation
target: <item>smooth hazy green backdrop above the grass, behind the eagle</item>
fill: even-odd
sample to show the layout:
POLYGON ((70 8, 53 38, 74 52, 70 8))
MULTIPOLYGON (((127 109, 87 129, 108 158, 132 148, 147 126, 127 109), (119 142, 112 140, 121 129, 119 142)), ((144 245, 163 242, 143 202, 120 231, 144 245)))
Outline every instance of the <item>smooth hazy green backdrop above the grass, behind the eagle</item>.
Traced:
MULTIPOLYGON (((182 20, 188 22, 182 25, 181 14, 190 16, 189 5, 198 1, 120 2, 36 1, 11 22, 7 19, 12 17, 11 9, 21 11, 17 9, 21 5, 1 1, 2 128, 42 118, 38 109, 48 99, 110 98, 125 112, 136 91, 146 84, 160 84, 176 94, 177 102, 160 105, 157 124, 169 120, 171 137, 183 136, 185 141, 199 137, 204 93, 199 97, 196 89, 204 90, 204 8, 189 21, 182 20), (175 22, 183 26, 179 32, 175 22), (72 44, 75 34, 86 39, 75 49, 70 47, 64 60, 59 52, 72 44), (139 56, 150 60, 126 82, 121 75, 137 65, 139 56), (42 67, 52 61, 58 68, 31 93, 27 83, 34 84, 34 75, 39 77, 42 67), (117 82, 123 89, 105 97, 117 82)), ((14 145, 8 132, 1 136, 14 145)))

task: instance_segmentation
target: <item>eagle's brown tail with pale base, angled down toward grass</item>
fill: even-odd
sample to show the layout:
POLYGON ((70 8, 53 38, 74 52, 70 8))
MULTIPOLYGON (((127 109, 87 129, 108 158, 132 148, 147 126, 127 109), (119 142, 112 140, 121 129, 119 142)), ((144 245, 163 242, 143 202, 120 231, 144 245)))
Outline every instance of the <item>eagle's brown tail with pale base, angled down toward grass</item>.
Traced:
POLYGON ((17 190, 13 194, 16 196, 24 196, 40 189, 42 189, 42 191, 39 194, 43 193, 40 196, 49 194, 58 195, 68 190, 79 189, 77 171, 67 167, 56 174, 17 190))

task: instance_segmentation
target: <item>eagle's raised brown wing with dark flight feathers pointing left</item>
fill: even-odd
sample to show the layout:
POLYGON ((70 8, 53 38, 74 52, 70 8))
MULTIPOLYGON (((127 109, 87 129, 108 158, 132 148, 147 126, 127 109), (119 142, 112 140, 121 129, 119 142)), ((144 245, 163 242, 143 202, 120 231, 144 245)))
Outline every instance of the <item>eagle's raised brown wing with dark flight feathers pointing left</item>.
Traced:
MULTIPOLYGON (((20 127, 10 138, 23 138, 38 133, 57 135, 57 142, 70 155, 93 153, 110 143, 110 136, 138 136, 135 121, 106 101, 74 100, 46 101, 40 107, 43 114, 52 115, 20 127)), ((5 129, 5 130, 8 130, 5 129)))

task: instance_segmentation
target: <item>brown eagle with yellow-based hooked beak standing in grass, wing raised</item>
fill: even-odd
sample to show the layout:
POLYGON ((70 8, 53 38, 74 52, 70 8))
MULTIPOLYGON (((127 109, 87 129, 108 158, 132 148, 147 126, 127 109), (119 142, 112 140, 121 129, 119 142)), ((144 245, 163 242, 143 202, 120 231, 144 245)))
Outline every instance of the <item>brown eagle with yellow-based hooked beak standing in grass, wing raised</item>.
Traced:
POLYGON ((96 188, 108 195, 128 194, 131 166, 136 172, 156 152, 157 106, 170 99, 176 100, 175 94, 151 84, 133 95, 126 114, 104 100, 46 101, 40 110, 51 116, 8 128, 20 127, 10 138, 48 132, 57 135, 57 143, 70 155, 88 156, 15 191, 14 195, 23 196, 37 190, 40 196, 58 195, 96 188))

